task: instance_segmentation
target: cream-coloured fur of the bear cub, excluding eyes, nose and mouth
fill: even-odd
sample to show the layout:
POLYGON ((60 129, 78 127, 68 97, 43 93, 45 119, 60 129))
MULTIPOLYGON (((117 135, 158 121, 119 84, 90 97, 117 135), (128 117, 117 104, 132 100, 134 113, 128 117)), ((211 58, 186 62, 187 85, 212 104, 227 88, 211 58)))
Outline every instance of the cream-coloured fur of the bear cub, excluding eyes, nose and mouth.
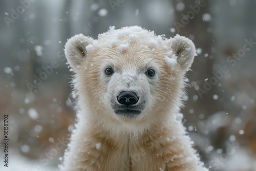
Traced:
POLYGON ((63 170, 208 170, 179 114, 184 74, 196 54, 193 42, 179 35, 165 39, 137 26, 112 27, 98 40, 72 37, 65 53, 75 72, 77 123, 63 170), (166 56, 177 58, 174 68, 166 56), (115 71, 112 76, 104 74, 107 67, 115 71), (145 75, 148 68, 155 70, 154 78, 145 75), (137 117, 116 115, 110 105, 125 90, 145 100, 137 117))

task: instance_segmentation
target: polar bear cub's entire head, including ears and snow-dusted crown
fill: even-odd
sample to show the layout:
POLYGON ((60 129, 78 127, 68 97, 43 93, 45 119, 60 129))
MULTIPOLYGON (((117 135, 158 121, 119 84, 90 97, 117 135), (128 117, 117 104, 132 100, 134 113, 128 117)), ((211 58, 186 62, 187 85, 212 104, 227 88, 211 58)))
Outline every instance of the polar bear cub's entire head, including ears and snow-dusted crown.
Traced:
POLYGON ((174 117, 195 52, 188 38, 167 39, 138 26, 110 27, 97 40, 75 35, 65 54, 75 72, 79 115, 129 133, 174 117))

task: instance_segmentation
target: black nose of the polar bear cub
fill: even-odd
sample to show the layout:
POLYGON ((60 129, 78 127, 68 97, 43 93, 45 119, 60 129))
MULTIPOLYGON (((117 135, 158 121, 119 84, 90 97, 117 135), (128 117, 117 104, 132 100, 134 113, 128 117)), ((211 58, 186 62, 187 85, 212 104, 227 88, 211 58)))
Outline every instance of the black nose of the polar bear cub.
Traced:
POLYGON ((124 105, 136 104, 138 100, 139 100, 139 97, 137 97, 136 93, 134 92, 121 92, 117 96, 117 101, 124 105))

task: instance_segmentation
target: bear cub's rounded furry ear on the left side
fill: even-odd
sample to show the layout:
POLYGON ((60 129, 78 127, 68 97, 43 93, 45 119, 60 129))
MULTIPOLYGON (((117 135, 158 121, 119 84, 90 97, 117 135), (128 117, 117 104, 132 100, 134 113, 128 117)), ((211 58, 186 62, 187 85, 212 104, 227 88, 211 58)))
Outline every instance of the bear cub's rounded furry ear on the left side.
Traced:
POLYGON ((68 39, 65 45, 65 55, 69 65, 76 71, 87 55, 86 47, 93 44, 93 39, 82 34, 77 34, 68 39))

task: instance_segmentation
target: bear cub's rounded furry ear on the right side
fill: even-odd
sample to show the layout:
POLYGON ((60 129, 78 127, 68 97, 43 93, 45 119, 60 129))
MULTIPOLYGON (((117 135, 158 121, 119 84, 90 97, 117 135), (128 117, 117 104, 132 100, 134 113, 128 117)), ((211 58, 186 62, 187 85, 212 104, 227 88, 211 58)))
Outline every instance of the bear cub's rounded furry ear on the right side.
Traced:
POLYGON ((176 35, 170 39, 170 49, 177 56, 177 65, 186 72, 197 56, 194 43, 189 38, 176 35))

